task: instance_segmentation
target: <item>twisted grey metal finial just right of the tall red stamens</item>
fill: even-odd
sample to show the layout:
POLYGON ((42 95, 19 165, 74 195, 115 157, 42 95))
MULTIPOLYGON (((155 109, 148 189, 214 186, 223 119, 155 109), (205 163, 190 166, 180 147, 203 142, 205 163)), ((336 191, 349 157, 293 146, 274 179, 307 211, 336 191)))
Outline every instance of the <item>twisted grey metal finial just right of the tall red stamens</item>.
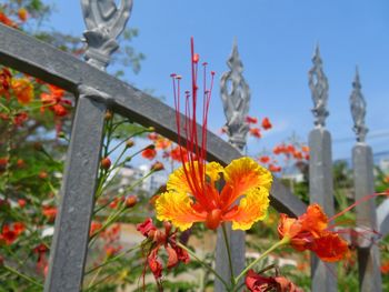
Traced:
POLYGON ((250 89, 242 75, 243 64, 238 53, 236 39, 227 64, 230 71, 225 72, 220 79, 220 93, 227 119, 225 128, 229 142, 242 150, 249 131, 246 117, 249 113, 250 89))

